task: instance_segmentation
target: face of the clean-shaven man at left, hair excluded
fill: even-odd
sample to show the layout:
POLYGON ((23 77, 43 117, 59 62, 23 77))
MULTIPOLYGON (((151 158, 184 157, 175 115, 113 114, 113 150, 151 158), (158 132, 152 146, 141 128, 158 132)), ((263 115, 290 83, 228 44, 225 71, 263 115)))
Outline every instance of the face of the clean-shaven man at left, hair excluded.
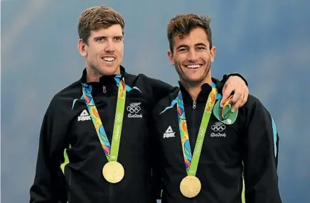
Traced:
POLYGON ((91 31, 87 43, 79 40, 79 50, 80 54, 85 57, 89 73, 118 74, 124 55, 122 27, 117 24, 98 31, 91 31))

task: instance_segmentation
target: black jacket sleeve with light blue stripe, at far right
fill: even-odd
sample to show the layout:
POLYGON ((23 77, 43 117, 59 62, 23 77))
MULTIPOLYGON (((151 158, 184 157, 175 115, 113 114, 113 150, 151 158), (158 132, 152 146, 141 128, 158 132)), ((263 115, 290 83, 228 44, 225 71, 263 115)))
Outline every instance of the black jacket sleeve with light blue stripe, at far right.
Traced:
POLYGON ((282 200, 277 177, 277 128, 272 116, 258 99, 251 106, 245 120, 247 126, 242 148, 245 202, 279 203, 282 200))

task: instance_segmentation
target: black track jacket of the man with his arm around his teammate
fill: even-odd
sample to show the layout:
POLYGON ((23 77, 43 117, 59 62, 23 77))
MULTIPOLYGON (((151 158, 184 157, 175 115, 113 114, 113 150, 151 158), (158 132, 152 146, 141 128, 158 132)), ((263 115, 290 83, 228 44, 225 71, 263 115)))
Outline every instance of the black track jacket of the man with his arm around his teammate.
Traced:
MULTIPOLYGON (((31 203, 156 201, 151 195, 151 112, 173 87, 145 75, 131 75, 124 67, 121 74, 128 86, 118 157, 124 166, 124 179, 110 184, 102 176, 107 158, 87 106, 80 99, 81 83, 86 82, 84 70, 80 80, 55 94, 44 116, 31 203)), ((223 82, 227 78, 224 75, 223 82)), ((91 84, 92 97, 111 143, 118 91, 114 75, 91 84)))

